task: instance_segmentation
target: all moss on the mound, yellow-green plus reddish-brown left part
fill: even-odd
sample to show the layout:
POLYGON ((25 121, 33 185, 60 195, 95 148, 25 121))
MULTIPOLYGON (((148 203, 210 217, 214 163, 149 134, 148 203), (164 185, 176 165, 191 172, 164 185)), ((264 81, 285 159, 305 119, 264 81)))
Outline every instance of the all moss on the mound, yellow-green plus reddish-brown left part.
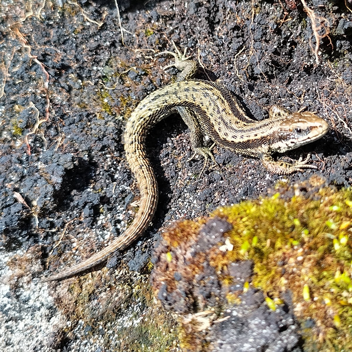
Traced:
MULTIPOLYGON (((197 273, 208 262, 225 295, 216 297, 218 304, 240 304, 241 293, 226 289, 236 282, 228 268, 238 260, 250 260, 253 276, 244 283, 243 292, 250 286, 262 290, 271 310, 284 303, 282 297, 287 295, 283 293, 288 292, 307 351, 352 350, 352 188, 337 190, 322 184, 319 177, 293 187, 278 182, 275 189, 279 191, 272 196, 218 208, 212 216, 228 221, 232 230, 222 235, 221 245, 206 247, 209 250, 204 253, 199 253, 200 233, 204 231, 200 228, 210 220, 183 221, 166 232, 153 272, 160 270, 158 266, 162 272, 167 269, 162 279, 168 302, 176 297, 178 310, 182 308, 177 301, 181 284, 175 282, 174 273, 180 274, 181 286, 188 285, 190 295, 195 295, 193 290, 201 285, 194 284, 197 273), (168 253, 177 253, 182 260, 172 254, 168 258, 168 253)), ((162 274, 154 274, 155 282, 161 278, 157 275, 162 274)), ((153 288, 157 294, 157 286, 153 288)), ((216 308, 217 303, 203 304, 205 309, 216 308)), ((190 345, 183 335, 181 330, 181 344, 190 345)))

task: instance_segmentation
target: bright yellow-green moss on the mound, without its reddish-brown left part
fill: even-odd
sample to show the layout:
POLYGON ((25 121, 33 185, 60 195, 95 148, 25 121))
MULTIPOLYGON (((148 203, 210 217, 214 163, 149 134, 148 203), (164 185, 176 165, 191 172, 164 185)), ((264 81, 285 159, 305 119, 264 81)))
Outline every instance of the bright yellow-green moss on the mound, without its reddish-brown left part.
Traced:
POLYGON ((255 287, 272 298, 290 290, 301 323, 314 320, 307 333, 312 343, 323 339, 322 350, 352 350, 351 188, 322 188, 310 199, 276 193, 219 208, 214 216, 233 225, 226 234, 233 250, 214 260, 218 270, 253 260, 255 287))

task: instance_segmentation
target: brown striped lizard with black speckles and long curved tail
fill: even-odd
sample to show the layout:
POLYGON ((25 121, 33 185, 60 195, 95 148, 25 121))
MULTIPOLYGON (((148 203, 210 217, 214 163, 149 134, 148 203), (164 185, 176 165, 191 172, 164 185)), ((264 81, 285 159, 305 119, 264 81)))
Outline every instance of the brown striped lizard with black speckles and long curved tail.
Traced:
POLYGON ((290 113, 278 105, 270 108, 269 118, 254 120, 246 115, 238 99, 220 83, 192 78, 198 64, 186 57, 187 48, 182 54, 172 44, 176 52, 159 54, 174 56, 175 62, 166 68, 175 66, 181 73, 175 82, 155 90, 140 101, 127 121, 123 136, 126 159, 140 190, 139 210, 132 224, 101 251, 43 281, 71 277, 106 262, 112 253, 130 246, 145 231, 158 203, 158 184, 146 154, 145 140, 150 129, 170 114, 179 114, 186 122, 191 131, 191 147, 205 158, 204 167, 209 157, 215 162, 210 148, 204 145, 204 138, 208 136, 215 144, 233 152, 261 158, 264 167, 272 173, 288 175, 306 168, 317 169, 308 163, 309 154, 306 159, 301 157, 294 163, 275 161, 271 155, 321 138, 329 129, 325 120, 308 111, 290 113))

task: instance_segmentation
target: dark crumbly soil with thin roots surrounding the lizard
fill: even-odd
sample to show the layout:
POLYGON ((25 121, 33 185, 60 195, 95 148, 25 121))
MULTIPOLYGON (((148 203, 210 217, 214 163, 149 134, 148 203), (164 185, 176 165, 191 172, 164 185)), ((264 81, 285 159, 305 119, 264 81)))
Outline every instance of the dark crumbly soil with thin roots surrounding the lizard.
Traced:
MULTIPOLYGON (((187 161, 189 130, 180 118, 170 117, 151 132, 147 146, 160 190, 149 230, 115 254, 107 269, 102 265, 88 274, 90 287, 84 278, 49 287, 40 283, 43 275, 101 249, 133 220, 131 202, 138 200, 138 190, 121 134, 138 102, 177 73, 164 69, 169 56, 155 56, 172 50, 171 39, 202 63, 197 77, 207 79, 208 73, 219 79, 253 118, 266 118, 271 105, 281 104, 291 111, 306 106, 329 122, 326 137, 283 157, 310 152, 318 170, 285 177, 287 182, 314 173, 337 187, 352 181, 350 1, 126 0, 118 5, 119 14, 114 2, 1 2, 4 351, 158 351, 157 340, 148 340, 140 329, 135 340, 148 340, 149 347, 144 342, 138 345, 144 347, 121 347, 128 330, 119 335, 116 321, 127 319, 126 312, 106 302, 117 299, 107 291, 117 293, 128 282, 131 293, 135 275, 147 277, 154 243, 171 222, 266 194, 282 178, 268 174, 260 160, 221 148, 215 150, 219 166, 198 178, 203 161, 187 161), (23 292, 31 298, 24 299, 23 292), (81 304, 90 307, 88 318, 74 310, 81 304), (102 310, 110 312, 108 323, 101 320, 102 310), (43 313, 34 317, 35 312, 43 313), (109 338, 111 331, 120 337, 109 338)), ((127 296, 126 302, 136 303, 127 296)), ((177 348, 177 343, 165 346, 177 348)))

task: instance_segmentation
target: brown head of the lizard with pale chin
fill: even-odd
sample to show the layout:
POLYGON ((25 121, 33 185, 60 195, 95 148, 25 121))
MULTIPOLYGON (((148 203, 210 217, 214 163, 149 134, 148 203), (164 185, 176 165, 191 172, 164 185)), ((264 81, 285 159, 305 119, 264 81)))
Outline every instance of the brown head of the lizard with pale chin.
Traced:
POLYGON ((283 153, 321 138, 328 130, 328 123, 309 111, 289 114, 282 117, 271 149, 283 153))

